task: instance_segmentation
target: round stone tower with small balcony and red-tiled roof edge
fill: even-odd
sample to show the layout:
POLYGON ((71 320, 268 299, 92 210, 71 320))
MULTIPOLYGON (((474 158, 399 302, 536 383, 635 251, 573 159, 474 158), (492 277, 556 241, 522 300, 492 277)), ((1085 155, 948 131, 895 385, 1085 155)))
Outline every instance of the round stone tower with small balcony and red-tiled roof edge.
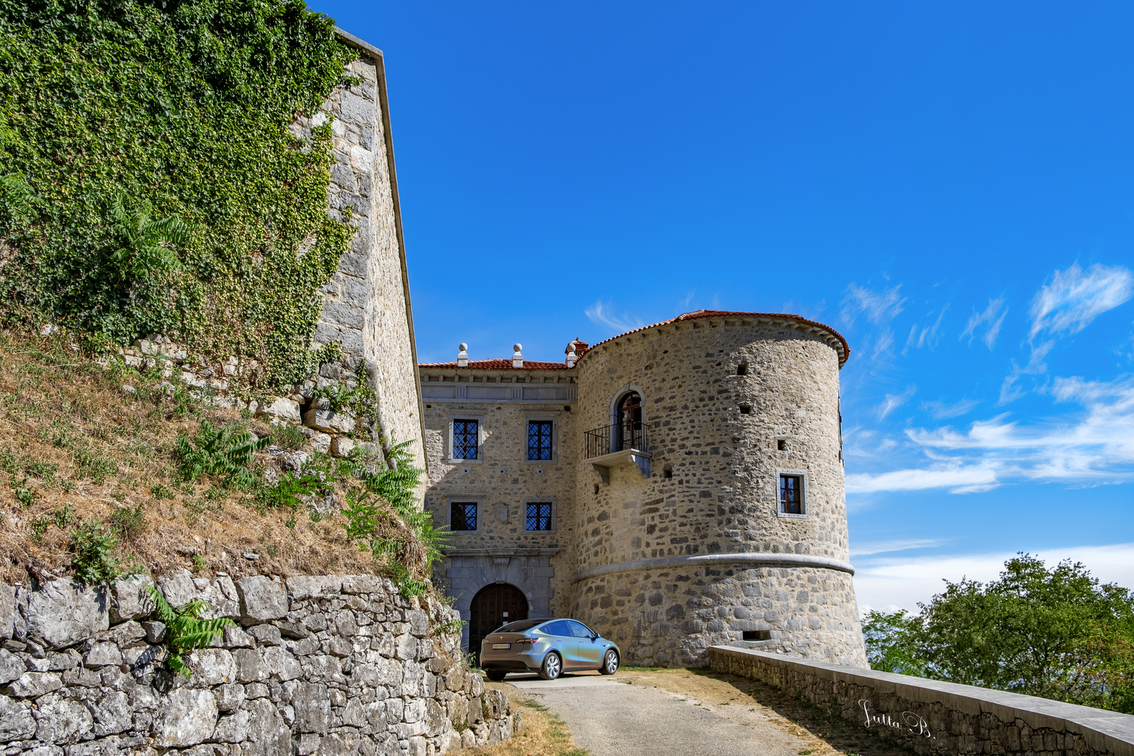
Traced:
POLYGON ((742 645, 865 666, 839 423, 846 341, 689 313, 578 359, 572 615, 625 663, 742 645))

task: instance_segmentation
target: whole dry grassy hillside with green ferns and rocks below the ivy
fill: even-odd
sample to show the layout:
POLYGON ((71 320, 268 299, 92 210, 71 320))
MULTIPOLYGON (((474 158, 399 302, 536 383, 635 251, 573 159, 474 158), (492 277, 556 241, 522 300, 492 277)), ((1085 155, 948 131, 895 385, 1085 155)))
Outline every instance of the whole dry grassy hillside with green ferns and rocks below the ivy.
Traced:
POLYGON ((0 579, 384 571, 424 588, 432 528, 387 501, 414 470, 373 445, 332 458, 311 428, 48 331, 0 333, 0 579))

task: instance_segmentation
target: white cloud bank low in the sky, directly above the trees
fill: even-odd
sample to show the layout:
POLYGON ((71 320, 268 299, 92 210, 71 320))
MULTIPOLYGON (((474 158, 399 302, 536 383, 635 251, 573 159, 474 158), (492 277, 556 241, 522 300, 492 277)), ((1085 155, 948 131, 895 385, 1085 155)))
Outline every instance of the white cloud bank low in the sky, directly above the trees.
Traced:
MULTIPOLYGON (((1024 549, 1026 546, 1022 544, 1021 550, 1024 549)), ((855 553, 853 543, 852 553, 855 553)), ((965 577, 971 580, 995 580, 1004 570, 1005 561, 1015 555, 1012 551, 1005 551, 855 559, 855 595, 863 611, 869 611, 870 606, 879 606, 886 611, 906 609, 916 612, 917 602, 928 603, 933 594, 945 589, 942 580, 956 583, 965 577)), ((1103 583, 1134 587, 1134 543, 1044 549, 1036 555, 1049 567, 1065 559, 1082 562, 1091 575, 1103 583)))

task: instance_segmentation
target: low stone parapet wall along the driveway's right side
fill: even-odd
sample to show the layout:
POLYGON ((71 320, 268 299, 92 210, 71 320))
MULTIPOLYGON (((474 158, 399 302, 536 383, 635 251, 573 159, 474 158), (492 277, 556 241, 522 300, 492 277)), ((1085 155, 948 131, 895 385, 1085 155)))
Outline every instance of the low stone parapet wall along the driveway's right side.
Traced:
POLYGON ((919 754, 1134 756, 1134 716, 1002 690, 712 646, 712 669, 775 686, 919 754))

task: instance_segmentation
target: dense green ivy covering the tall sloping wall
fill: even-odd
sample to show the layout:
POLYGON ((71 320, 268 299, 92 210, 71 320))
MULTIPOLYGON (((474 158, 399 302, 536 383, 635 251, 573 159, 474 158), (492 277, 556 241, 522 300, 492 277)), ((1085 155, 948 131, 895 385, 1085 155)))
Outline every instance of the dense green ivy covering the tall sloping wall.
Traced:
POLYGON ((305 379, 354 229, 327 215, 330 124, 288 127, 353 57, 298 0, 0 0, 0 308, 305 379), (184 233, 141 254, 138 219, 184 233))

